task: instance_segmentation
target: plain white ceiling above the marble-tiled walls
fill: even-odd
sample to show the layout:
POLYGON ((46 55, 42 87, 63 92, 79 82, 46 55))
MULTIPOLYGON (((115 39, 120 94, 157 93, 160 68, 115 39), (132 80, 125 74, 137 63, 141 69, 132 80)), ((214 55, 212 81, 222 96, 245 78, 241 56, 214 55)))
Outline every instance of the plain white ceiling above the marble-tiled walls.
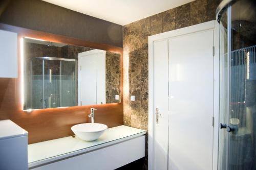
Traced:
POLYGON ((194 0, 43 0, 83 14, 126 25, 194 0))

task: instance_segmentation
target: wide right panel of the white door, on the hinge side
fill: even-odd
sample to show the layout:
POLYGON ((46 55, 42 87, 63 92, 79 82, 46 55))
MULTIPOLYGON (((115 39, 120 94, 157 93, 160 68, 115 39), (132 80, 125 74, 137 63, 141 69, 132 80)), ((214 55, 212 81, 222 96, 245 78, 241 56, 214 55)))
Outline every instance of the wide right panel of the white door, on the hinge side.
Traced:
POLYGON ((169 169, 212 169, 213 31, 169 40, 169 169))

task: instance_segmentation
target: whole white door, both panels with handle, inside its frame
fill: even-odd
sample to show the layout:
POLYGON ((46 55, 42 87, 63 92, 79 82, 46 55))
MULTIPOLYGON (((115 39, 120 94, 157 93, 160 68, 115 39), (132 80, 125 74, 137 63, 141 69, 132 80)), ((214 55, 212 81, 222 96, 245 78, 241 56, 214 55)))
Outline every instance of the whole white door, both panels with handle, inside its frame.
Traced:
POLYGON ((209 30, 154 41, 156 170, 212 169, 213 34, 209 30))

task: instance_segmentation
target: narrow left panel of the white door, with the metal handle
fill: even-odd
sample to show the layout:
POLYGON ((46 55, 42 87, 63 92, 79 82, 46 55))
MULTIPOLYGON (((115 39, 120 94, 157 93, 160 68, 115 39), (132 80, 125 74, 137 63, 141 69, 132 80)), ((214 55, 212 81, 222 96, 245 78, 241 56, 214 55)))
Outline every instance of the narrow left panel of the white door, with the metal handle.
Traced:
POLYGON ((154 43, 155 169, 168 168, 168 40, 154 43), (158 110, 158 111, 157 111, 158 110), (159 115, 157 114, 159 113, 159 115), (158 120, 157 120, 158 119, 158 120))

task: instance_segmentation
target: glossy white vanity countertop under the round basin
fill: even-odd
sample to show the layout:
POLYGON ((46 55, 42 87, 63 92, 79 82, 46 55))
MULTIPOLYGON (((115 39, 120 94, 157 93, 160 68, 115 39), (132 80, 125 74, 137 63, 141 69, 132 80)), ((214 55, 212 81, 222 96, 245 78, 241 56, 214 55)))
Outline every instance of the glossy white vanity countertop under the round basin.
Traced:
POLYGON ((69 136, 29 144, 29 167, 107 147, 108 145, 129 140, 145 133, 146 131, 144 130, 122 125, 107 129, 95 141, 83 141, 78 137, 69 136))

